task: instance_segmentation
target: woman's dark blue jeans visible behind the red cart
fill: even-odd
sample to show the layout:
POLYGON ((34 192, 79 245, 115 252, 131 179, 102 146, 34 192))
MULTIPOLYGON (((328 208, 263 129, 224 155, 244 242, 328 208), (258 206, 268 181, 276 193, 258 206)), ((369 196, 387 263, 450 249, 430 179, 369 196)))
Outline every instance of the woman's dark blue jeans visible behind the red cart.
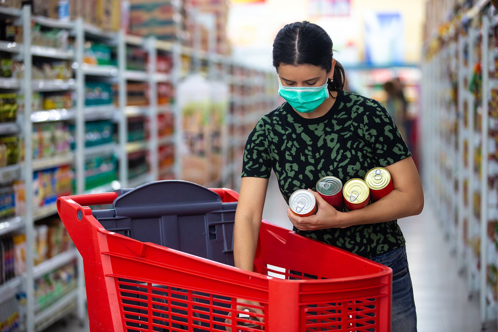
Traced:
POLYGON ((405 247, 374 256, 371 260, 392 269, 391 332, 416 332, 417 314, 405 247))

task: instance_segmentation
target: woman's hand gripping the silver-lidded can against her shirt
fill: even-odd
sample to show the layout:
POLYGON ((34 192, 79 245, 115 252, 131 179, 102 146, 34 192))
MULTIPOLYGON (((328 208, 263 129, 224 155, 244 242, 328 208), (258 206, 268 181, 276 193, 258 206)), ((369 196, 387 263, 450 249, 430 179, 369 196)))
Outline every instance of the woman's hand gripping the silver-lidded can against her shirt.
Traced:
POLYGON ((346 227, 341 220, 343 212, 337 211, 333 206, 325 202, 325 200, 317 193, 308 189, 315 196, 318 204, 318 212, 316 215, 308 217, 296 216, 290 209, 287 209, 287 217, 290 222, 299 230, 315 230, 325 228, 342 228, 346 227))

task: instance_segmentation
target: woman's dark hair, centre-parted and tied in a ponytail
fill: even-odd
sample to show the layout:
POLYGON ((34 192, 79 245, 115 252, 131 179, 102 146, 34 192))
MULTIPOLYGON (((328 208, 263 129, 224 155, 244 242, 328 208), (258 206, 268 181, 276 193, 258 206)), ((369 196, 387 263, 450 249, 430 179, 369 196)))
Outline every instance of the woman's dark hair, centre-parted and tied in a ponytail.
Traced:
MULTIPOLYGON (((273 67, 277 70, 280 64, 313 65, 332 70, 332 39, 320 26, 308 21, 294 22, 285 25, 278 31, 273 40, 273 67)), ((346 75, 343 66, 336 61, 334 81, 327 81, 329 91, 344 89, 346 75)))

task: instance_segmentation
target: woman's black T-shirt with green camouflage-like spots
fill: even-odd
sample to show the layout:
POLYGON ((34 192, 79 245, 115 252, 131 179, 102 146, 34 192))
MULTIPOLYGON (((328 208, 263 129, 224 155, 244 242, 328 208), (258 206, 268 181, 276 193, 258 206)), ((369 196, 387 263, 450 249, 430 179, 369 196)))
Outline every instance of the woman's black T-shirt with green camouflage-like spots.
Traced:
MULTIPOLYGON (((380 103, 339 91, 330 111, 318 118, 304 118, 288 103, 264 115, 247 140, 242 177, 269 178, 273 169, 289 203, 298 189, 316 191, 317 181, 324 176, 335 176, 344 184, 352 178, 364 179, 373 167, 385 167, 410 155, 380 103)), ((294 230, 367 258, 405 243, 397 221, 294 230)))

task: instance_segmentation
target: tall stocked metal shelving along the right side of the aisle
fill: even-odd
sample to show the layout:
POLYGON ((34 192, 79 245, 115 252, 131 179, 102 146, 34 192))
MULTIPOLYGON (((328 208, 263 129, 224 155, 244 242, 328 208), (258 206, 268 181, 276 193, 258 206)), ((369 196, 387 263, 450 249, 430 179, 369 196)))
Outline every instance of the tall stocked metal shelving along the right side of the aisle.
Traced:
POLYGON ((490 139, 497 121, 491 107, 498 105, 497 82, 490 76, 498 75, 491 44, 492 37, 497 43, 498 10, 479 0, 461 18, 447 17, 444 33, 434 33, 424 49, 424 184, 456 249, 469 298, 479 298, 486 330, 498 319, 498 156, 490 139), (446 75, 448 67, 456 80, 446 75), (452 105, 445 96, 450 89, 457 93, 452 105))

